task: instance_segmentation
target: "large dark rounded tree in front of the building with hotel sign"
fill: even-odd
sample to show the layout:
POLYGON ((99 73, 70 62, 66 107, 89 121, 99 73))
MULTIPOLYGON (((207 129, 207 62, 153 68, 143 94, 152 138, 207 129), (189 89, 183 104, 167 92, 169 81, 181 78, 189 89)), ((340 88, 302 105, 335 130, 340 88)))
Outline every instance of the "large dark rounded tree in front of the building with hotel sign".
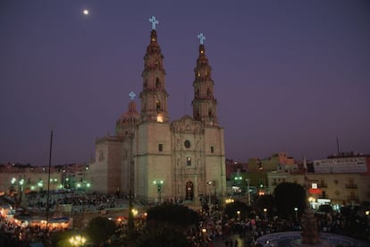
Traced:
POLYGON ((292 217, 295 208, 302 214, 306 207, 306 191, 298 183, 280 183, 274 192, 277 214, 281 217, 292 217))

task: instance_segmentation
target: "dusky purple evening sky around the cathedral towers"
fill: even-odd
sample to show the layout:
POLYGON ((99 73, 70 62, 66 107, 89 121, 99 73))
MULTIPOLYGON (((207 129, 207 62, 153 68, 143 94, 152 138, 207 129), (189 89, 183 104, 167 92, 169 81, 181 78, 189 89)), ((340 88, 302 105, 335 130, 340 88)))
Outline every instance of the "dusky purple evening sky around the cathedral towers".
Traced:
POLYGON ((139 95, 152 15, 171 120, 192 115, 205 34, 227 158, 325 158, 336 136, 370 153, 369 13, 339 0, 1 1, 0 163, 47 165, 52 128, 53 164, 88 162, 139 95))

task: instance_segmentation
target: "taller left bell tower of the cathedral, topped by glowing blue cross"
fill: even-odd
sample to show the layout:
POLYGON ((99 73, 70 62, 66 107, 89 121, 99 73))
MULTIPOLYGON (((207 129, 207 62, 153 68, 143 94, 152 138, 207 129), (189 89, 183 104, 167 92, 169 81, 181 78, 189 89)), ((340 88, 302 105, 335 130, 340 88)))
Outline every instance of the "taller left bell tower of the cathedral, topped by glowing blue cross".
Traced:
POLYGON ((141 101, 141 121, 168 123, 167 98, 168 93, 164 87, 164 55, 157 43, 156 17, 149 19, 152 22, 150 43, 144 55, 143 90, 139 95, 141 101))

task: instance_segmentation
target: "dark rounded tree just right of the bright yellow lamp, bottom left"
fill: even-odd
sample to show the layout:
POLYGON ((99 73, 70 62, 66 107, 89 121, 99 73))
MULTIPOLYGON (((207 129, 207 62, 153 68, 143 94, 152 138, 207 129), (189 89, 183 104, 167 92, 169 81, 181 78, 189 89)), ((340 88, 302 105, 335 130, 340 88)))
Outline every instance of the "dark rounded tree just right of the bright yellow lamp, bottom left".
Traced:
POLYGON ((94 217, 88 223, 86 232, 93 243, 104 243, 116 230, 114 221, 105 217, 94 217))

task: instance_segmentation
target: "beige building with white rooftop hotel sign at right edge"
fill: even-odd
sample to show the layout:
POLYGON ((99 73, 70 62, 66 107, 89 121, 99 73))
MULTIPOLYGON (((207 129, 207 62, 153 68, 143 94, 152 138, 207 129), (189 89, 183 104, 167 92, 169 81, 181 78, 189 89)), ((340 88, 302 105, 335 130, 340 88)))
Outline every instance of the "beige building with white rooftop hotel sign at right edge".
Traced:
MULTIPOLYGON (((309 197, 330 201, 332 205, 355 205, 370 201, 370 156, 354 153, 341 154, 307 163, 307 178, 310 184, 309 197)), ((304 166, 291 166, 291 169, 268 173, 271 191, 279 183, 299 183, 305 185, 304 166)))

